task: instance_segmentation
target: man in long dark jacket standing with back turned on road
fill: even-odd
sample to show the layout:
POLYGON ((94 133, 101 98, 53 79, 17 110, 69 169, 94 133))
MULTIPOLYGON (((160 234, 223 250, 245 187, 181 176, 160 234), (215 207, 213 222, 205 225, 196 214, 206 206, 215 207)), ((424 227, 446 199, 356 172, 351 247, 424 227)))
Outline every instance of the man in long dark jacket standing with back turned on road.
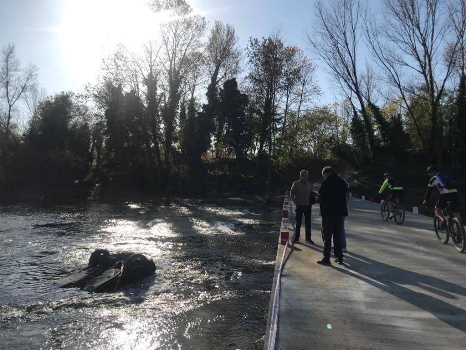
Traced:
POLYGON ((343 264, 342 251, 342 216, 348 216, 346 204, 346 182, 335 173, 331 166, 322 169, 322 182, 320 195, 320 213, 322 216, 322 239, 324 240, 324 257, 317 263, 331 265, 330 249, 333 245, 336 259, 339 264, 343 264))

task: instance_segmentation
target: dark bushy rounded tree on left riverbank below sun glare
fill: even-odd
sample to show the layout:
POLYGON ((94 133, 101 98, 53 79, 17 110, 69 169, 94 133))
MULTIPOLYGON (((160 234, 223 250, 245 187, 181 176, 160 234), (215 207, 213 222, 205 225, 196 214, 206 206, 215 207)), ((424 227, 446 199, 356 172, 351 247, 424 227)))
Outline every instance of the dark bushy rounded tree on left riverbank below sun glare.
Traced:
POLYGON ((16 159, 23 184, 70 186, 86 176, 91 139, 86 113, 87 108, 74 102, 70 93, 40 103, 16 159), (23 171, 26 166, 31 170, 23 171))

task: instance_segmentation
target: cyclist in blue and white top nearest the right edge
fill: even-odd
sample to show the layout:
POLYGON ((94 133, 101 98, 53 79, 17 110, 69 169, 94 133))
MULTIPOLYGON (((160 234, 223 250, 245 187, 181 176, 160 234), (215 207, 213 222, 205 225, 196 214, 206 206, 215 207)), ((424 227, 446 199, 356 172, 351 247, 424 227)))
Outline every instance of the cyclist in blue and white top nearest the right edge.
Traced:
POLYGON ((432 189, 437 187, 440 191, 440 196, 435 204, 435 214, 439 216, 441 222, 443 222, 444 217, 442 215, 442 210, 447 207, 449 201, 453 201, 454 215, 462 222, 459 212, 460 202, 458 200, 458 190, 453 176, 447 172, 440 172, 440 168, 437 165, 430 165, 427 168, 427 173, 431 176, 431 179, 429 180, 429 188, 424 197, 423 205, 427 205, 427 200, 431 195, 432 189))

